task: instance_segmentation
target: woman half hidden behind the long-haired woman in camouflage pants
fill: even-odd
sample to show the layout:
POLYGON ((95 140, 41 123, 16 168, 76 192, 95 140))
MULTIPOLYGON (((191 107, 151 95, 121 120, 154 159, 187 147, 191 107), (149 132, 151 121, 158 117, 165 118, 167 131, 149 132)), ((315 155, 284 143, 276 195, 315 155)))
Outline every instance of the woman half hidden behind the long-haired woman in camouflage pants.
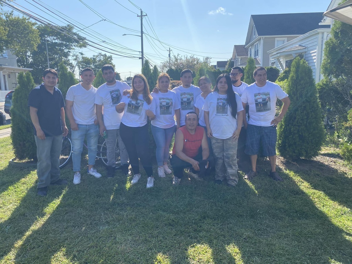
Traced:
MULTIPOLYGON (((204 121, 204 110, 203 106, 205 103, 205 99, 207 98, 208 94, 212 92, 212 82, 206 76, 202 76, 198 80, 198 87, 202 91, 200 95, 197 96, 196 100, 194 101, 194 110, 199 117, 199 125, 204 128, 205 134, 208 134, 207 126, 204 121)), ((210 142, 210 138, 208 138, 208 145, 209 145, 209 153, 212 155, 212 143, 210 142)))

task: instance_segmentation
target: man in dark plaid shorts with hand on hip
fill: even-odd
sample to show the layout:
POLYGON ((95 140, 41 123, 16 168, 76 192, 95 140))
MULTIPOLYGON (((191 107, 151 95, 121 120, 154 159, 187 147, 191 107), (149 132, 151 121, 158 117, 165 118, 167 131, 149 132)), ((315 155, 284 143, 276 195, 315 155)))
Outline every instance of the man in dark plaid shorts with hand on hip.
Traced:
POLYGON ((290 105, 290 99, 280 86, 276 83, 266 80, 266 70, 264 67, 258 67, 253 72, 255 83, 249 85, 241 96, 243 107, 249 105, 249 120, 244 118, 244 128, 247 129, 247 141, 245 152, 250 155, 252 169, 244 177, 245 180, 251 181, 257 175, 257 158, 260 141, 263 145, 264 156, 269 157, 271 172, 269 174, 275 181, 283 181, 276 172, 276 126, 282 120, 290 105), (255 101, 258 94, 264 98, 262 107, 256 107, 258 102, 255 101), (275 117, 276 100, 283 102, 280 114, 275 117))

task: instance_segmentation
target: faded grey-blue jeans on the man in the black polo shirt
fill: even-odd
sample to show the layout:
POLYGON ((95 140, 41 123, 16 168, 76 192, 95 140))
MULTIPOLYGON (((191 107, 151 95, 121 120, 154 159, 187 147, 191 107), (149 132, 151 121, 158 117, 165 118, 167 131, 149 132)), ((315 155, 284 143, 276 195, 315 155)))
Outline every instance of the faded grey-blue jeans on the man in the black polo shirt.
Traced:
POLYGON ((37 175, 38 187, 49 186, 60 177, 60 153, 62 148, 62 135, 39 139, 34 136, 37 144, 37 175))

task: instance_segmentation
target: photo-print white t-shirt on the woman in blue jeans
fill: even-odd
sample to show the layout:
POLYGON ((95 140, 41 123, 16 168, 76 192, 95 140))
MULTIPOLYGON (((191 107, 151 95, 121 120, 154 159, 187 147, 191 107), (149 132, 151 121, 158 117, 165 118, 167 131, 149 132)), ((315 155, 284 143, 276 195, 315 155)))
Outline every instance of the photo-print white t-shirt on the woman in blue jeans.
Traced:
POLYGON ((181 108, 176 93, 168 90, 166 93, 152 92, 150 95, 156 105, 155 119, 151 121, 151 124, 160 128, 175 126, 175 110, 181 108))

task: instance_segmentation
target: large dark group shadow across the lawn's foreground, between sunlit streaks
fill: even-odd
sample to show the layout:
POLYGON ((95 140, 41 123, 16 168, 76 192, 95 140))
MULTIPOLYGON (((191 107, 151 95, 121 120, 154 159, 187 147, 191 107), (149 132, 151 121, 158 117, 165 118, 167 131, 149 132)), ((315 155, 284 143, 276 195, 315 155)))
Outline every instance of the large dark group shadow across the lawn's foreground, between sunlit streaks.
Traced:
MULTIPOLYGON (((80 263, 152 263, 157 256, 171 263, 193 263, 193 258, 199 263, 329 263, 329 258, 349 263, 350 234, 334 225, 293 177, 280 174, 282 183, 264 173, 254 178, 258 194, 241 177, 236 188, 192 179, 175 188, 171 176, 156 177, 155 187, 146 189, 142 175, 126 190, 122 175, 111 180, 82 175, 82 183, 68 186, 55 211, 19 247, 15 261, 49 263, 64 248, 64 257, 80 263)), ((60 193, 53 188, 50 197, 60 193)), ((20 207, 31 214, 26 209, 31 203, 33 197, 26 195, 20 207)), ((34 207, 40 212, 47 204, 34 207)), ((20 224, 22 216, 13 213, 7 225, 20 224)), ((13 227, 8 237, 20 238, 25 230, 13 227)), ((13 241, 1 245, 8 252, 13 241)))

